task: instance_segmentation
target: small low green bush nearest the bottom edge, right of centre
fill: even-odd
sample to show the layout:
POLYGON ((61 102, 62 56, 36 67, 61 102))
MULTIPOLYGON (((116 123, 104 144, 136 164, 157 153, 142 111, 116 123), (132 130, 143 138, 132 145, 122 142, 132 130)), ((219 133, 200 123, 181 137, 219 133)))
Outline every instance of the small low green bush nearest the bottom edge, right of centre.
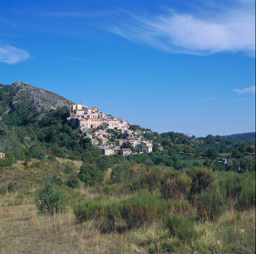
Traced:
POLYGON ((173 236, 177 236, 182 241, 192 241, 196 239, 198 233, 194 228, 194 221, 183 218, 178 214, 167 216, 165 224, 173 236))

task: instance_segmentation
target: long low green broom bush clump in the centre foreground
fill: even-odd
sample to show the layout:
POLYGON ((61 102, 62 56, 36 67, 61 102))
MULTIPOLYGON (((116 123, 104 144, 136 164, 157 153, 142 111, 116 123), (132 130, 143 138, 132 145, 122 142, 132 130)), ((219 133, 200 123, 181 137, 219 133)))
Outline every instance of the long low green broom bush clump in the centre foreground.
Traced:
POLYGON ((105 196, 87 199, 76 203, 73 210, 80 223, 101 219, 104 221, 102 232, 120 231, 121 227, 136 228, 145 222, 152 223, 156 217, 160 217, 165 212, 165 202, 149 191, 143 190, 123 199, 111 199, 105 196), (122 225, 118 223, 121 221, 122 225))

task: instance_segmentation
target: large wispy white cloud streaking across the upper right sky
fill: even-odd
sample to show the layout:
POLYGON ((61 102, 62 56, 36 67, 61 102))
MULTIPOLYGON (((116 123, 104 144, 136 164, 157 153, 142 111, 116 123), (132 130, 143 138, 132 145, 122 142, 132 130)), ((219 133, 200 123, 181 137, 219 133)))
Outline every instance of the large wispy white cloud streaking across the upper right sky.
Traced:
POLYGON ((210 55, 242 51, 255 56, 255 9, 210 13, 209 17, 173 10, 151 17, 129 14, 127 22, 119 22, 108 29, 134 43, 170 53, 210 55))

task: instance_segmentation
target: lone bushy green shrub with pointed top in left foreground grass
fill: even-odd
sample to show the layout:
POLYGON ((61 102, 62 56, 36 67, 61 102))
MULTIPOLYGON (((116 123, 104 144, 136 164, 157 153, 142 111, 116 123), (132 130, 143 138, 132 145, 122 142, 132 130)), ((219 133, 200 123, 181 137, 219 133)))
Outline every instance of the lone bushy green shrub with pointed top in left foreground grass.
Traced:
POLYGON ((36 192, 34 202, 40 213, 65 212, 67 209, 64 192, 58 190, 52 178, 48 178, 42 191, 36 192))

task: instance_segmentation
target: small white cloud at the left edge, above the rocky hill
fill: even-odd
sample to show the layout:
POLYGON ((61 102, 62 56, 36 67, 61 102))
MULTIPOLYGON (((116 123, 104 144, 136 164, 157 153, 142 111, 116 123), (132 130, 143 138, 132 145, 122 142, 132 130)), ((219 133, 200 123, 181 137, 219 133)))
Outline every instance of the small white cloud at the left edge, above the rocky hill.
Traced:
POLYGON ((15 48, 10 45, 0 45, 0 62, 15 64, 29 57, 25 50, 15 48))

